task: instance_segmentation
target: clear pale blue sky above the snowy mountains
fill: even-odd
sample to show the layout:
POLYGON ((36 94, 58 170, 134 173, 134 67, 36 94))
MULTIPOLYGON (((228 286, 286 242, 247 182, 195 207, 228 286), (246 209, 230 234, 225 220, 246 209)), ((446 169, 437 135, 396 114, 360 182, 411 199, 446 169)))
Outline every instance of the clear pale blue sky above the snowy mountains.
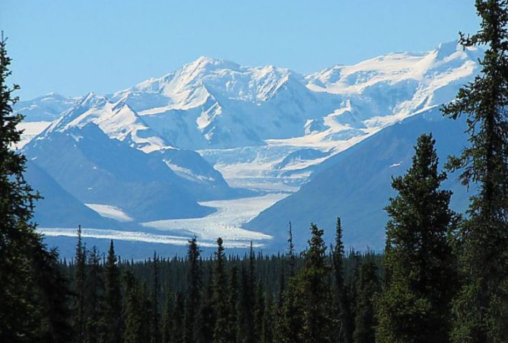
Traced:
POLYGON ((28 99, 111 93, 199 56, 300 73, 426 51, 478 29, 474 0, 1 0, 28 99))

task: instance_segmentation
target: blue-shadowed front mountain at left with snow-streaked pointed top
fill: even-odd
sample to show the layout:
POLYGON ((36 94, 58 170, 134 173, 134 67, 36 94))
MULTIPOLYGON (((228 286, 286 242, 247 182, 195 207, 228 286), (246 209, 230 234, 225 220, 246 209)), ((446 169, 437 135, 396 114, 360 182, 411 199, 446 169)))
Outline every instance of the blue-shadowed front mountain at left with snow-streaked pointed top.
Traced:
POLYGON ((114 206, 135 221, 205 215, 212 210, 197 201, 236 195, 199 154, 165 143, 122 100, 93 93, 23 152, 91 209, 114 206))

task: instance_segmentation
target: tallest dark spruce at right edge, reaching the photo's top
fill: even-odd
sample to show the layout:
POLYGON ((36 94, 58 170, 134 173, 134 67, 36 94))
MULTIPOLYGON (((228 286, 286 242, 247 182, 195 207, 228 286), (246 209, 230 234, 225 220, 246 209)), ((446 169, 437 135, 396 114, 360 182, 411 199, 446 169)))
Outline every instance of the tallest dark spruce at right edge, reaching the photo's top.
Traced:
POLYGON ((448 161, 464 185, 478 186, 456 235, 463 285, 454 300, 454 342, 508 341, 508 1, 476 0, 481 29, 461 34, 480 45, 481 73, 443 107, 467 118, 470 146, 448 161))

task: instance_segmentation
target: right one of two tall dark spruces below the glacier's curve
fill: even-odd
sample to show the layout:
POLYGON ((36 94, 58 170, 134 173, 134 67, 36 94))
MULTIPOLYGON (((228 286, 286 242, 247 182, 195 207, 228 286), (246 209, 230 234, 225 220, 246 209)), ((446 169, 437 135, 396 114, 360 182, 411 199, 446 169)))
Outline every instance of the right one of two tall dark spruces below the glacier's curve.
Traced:
POLYGON ((224 266, 224 246, 222 238, 217 239, 215 253, 215 270, 213 272, 213 311, 215 312, 215 326, 213 327, 213 342, 227 342, 227 324, 229 322, 227 296, 227 275, 224 266))

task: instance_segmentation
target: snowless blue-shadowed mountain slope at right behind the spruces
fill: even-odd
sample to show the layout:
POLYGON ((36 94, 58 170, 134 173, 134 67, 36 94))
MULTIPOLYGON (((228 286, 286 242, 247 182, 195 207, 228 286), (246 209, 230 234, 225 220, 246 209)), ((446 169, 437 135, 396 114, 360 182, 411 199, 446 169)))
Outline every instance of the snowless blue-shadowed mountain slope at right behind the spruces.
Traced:
MULTIPOLYGON (((276 242, 287 238, 291 221, 295 245, 303 249, 311 222, 325 230, 332 242, 336 217, 343 220, 344 241, 358 250, 384 248, 384 225, 388 220, 384 207, 395 193, 391 177, 411 166, 413 146, 419 134, 432 132, 442 168, 450 154, 459 154, 467 144, 463 119, 444 118, 437 108, 410 117, 381 130, 364 141, 321 163, 299 191, 262 211, 245 224, 251 230, 264 230, 276 242)), ((467 208, 467 193, 457 174, 448 176, 443 189, 453 191, 452 209, 467 208)))

